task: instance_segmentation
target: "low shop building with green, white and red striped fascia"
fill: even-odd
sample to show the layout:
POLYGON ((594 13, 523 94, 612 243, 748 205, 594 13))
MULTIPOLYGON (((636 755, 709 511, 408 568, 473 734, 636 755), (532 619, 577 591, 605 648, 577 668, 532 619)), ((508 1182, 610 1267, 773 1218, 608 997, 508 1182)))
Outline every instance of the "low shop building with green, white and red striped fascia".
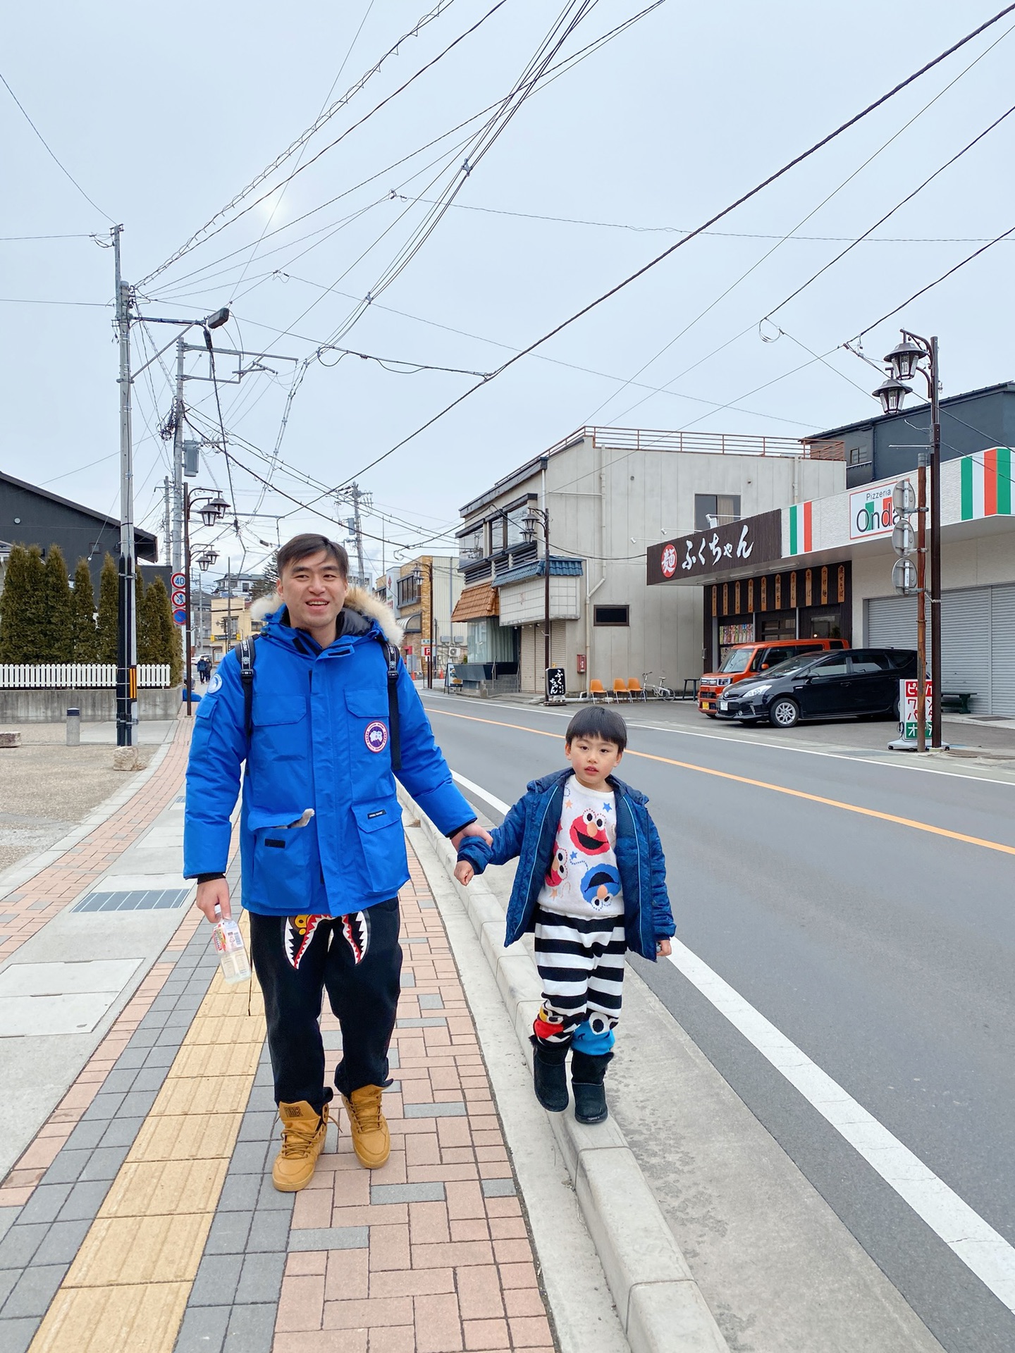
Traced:
MULTIPOLYGON (((1015 716, 1014 467, 1007 446, 941 467, 942 683, 970 695, 976 714, 1015 716)), ((838 635, 854 648, 915 648, 916 598, 892 587, 896 479, 743 522, 767 547, 746 560, 724 556, 704 578, 674 570, 667 555, 674 545, 678 560, 693 553, 697 536, 663 541, 650 551, 650 582, 660 584, 651 590, 704 594, 709 667, 746 640, 838 635)))

